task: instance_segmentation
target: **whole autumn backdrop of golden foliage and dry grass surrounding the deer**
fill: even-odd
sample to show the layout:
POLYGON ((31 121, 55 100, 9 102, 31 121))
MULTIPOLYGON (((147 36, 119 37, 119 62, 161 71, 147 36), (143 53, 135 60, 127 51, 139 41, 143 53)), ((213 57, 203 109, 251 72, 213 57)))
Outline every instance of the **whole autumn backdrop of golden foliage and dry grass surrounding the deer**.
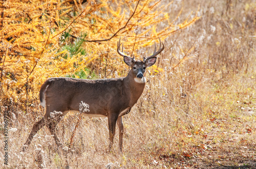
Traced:
MULTIPOLYGON (((256 2, 1 1, 0 132, 10 117, 7 168, 255 168, 256 2), (165 44, 146 71, 145 90, 123 117, 123 154, 107 153, 105 118, 83 117, 68 154, 47 128, 20 150, 44 116, 48 77, 112 78, 165 44)), ((77 116, 57 127, 69 146, 77 116)), ((1 134, 0 138, 4 137, 1 134)), ((0 159, 3 161, 0 143, 0 159)))

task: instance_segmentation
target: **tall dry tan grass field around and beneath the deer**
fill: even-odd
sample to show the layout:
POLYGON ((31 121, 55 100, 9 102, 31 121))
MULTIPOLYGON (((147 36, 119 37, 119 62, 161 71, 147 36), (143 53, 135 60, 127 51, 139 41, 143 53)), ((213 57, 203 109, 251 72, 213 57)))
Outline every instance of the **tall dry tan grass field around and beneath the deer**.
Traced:
MULTIPOLYGON (((56 147, 44 127, 20 154, 36 118, 44 115, 36 104, 26 113, 13 108, 10 127, 17 131, 9 132, 9 165, 0 166, 256 168, 256 6, 239 2, 202 1, 202 18, 164 42, 158 68, 148 69, 144 93, 123 117, 123 154, 118 153, 118 130, 108 153, 107 119, 89 117, 82 118, 69 153, 56 147)), ((170 15, 175 17, 181 7, 183 17, 196 11, 198 4, 189 3, 174 2, 170 15)), ((58 124, 64 145, 76 121, 76 116, 68 116, 58 124)))

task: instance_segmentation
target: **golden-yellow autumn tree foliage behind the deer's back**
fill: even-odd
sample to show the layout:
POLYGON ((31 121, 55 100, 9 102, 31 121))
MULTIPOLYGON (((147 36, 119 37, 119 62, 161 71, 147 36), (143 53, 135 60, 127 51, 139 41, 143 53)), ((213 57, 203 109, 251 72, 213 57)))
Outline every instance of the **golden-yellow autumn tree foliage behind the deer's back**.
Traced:
POLYGON ((199 19, 189 16, 177 23, 178 16, 172 20, 166 12, 170 4, 160 1, 14 0, 1 5, 1 99, 25 106, 48 77, 74 74, 89 63, 100 73, 106 69, 102 62, 122 72, 116 55, 120 36, 125 52, 136 55, 140 47, 199 19))

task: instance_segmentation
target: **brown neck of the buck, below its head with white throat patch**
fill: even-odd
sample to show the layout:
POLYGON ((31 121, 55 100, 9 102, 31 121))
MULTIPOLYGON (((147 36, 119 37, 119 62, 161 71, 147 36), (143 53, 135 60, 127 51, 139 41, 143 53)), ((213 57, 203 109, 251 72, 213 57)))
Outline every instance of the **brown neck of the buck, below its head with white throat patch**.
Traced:
POLYGON ((127 92, 127 95, 130 95, 131 106, 137 103, 138 99, 143 93, 145 82, 145 77, 143 77, 142 79, 138 79, 136 76, 133 75, 131 71, 124 78, 124 87, 125 91, 127 92))

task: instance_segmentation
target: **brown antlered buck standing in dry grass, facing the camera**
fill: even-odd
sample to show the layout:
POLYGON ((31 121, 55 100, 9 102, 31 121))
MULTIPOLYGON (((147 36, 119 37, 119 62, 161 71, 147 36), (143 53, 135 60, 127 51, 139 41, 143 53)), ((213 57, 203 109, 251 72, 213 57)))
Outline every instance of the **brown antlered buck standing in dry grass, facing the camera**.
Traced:
MULTIPOLYGON (((121 38, 120 38, 121 39, 121 38)), ((107 117, 109 126, 110 144, 113 146, 116 123, 119 127, 119 150, 122 152, 123 123, 122 116, 128 114, 131 108, 137 103, 145 87, 145 70, 156 63, 156 56, 164 49, 161 42, 156 51, 156 42, 153 55, 143 57, 143 61, 136 61, 123 53, 123 43, 117 42, 117 53, 123 57, 126 65, 131 67, 128 75, 121 78, 110 79, 77 79, 68 77, 49 78, 42 84, 39 92, 40 104, 46 107, 45 116, 36 122, 24 144, 25 151, 31 143, 33 136, 40 128, 47 126, 54 137, 55 143, 61 147, 61 143, 55 132, 56 125, 69 111, 79 112, 79 103, 83 101, 89 104, 90 111, 83 116, 107 117), (122 44, 122 51, 120 47, 122 44), (59 118, 53 120, 51 113, 60 111, 59 118)))

